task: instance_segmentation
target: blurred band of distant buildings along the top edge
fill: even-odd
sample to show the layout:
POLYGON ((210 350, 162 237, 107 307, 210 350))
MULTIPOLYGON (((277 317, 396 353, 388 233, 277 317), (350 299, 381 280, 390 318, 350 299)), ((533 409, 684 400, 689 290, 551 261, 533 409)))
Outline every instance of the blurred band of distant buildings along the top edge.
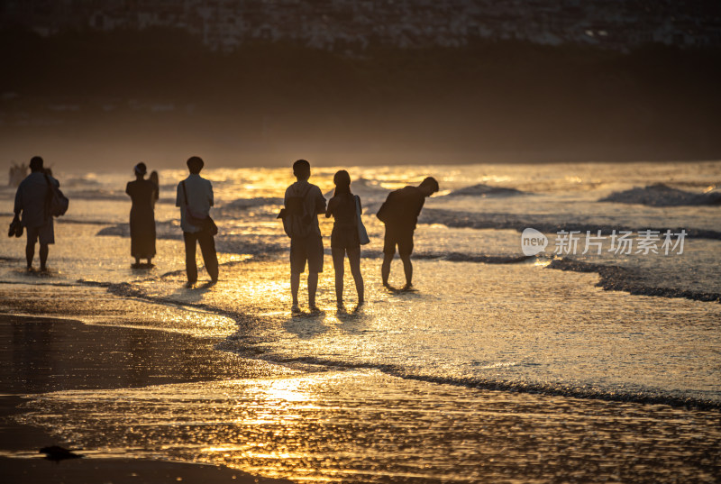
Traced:
MULTIPOLYGON (((247 41, 293 41, 361 53, 371 43, 455 47, 475 39, 721 46, 721 5, 683 0, 5 0, 0 26, 41 35, 178 28, 214 50, 247 41)), ((721 3, 719 3, 721 4, 721 3)))

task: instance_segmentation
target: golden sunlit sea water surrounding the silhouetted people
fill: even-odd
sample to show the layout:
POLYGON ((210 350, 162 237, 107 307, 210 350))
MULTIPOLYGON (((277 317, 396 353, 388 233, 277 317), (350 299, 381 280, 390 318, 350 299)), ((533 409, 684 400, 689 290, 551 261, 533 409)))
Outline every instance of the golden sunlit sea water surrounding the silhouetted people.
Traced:
MULTIPOLYGON (((313 171, 326 197, 335 170, 313 171)), ((103 445, 84 429, 100 429, 111 454, 224 462, 293 479, 574 480, 567 461, 593 447, 582 442, 590 434, 600 447, 587 461, 600 468, 576 480, 670 480, 665 472, 674 460, 687 462, 689 469, 678 462, 675 469, 693 479, 717 478, 717 445, 708 449, 719 443, 721 408, 721 163, 349 171, 371 238, 361 260, 367 304, 354 307, 346 270, 347 307, 336 310, 327 255, 332 222, 322 218, 324 312, 317 315, 289 312, 288 240, 275 217, 293 181, 290 169, 204 170, 214 184, 222 268, 216 287, 196 290, 182 288, 175 188, 183 170, 160 170, 158 256, 148 271, 129 267, 126 177, 59 173, 71 205, 56 224, 50 275, 23 270, 22 242, 0 242, 0 277, 22 295, 0 303, 6 311, 54 314, 43 296, 74 294, 64 310, 75 308, 88 323, 208 336, 218 351, 301 374, 60 392, 36 400, 30 421, 50 425, 45 416, 56 424, 66 416, 59 428, 91 447, 103 445), (429 175, 441 191, 427 199, 415 233, 417 290, 387 290, 379 280, 383 230, 373 214, 390 190, 429 175), (545 250, 525 255, 526 228, 543 233, 545 250), (659 236, 655 251, 639 245, 647 230, 659 236), (574 251, 562 244, 571 231, 579 237, 574 251), (583 253, 587 232, 598 231, 600 249, 583 253), (632 233, 630 251, 611 245, 611 234, 622 231, 632 233), (666 231, 676 244, 669 253, 666 231), (151 307, 152 317, 133 323, 103 313, 98 306, 109 303, 99 294, 151 307), (98 407, 103 411, 87 416, 98 407), (644 420, 653 436, 636 428, 644 420), (484 451, 493 439, 506 439, 507 449, 484 451), (624 450, 625 441, 633 449, 624 450), (658 469, 628 463, 643 442, 665 462, 658 469), (529 457, 534 452, 551 453, 541 465, 529 457), (603 471, 619 461, 627 474, 603 471)), ((7 214, 13 190, 2 196, 7 214)), ((403 283, 398 262, 391 283, 403 283)), ((304 291, 305 284, 302 304, 304 291)))

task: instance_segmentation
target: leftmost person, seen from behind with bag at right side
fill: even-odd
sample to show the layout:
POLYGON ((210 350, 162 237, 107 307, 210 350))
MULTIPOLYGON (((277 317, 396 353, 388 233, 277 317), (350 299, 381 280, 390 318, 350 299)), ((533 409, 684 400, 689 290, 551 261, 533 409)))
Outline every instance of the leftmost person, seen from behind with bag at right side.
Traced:
POLYGON ((50 177, 42 168, 39 156, 30 160, 31 173, 20 183, 15 193, 15 215, 21 215, 22 224, 28 234, 25 246, 25 259, 28 270, 32 270, 32 259, 35 256, 35 243, 40 242, 40 269, 46 271, 48 261, 48 245, 55 243, 55 230, 52 216, 48 212, 49 184, 59 187, 59 181, 50 177))

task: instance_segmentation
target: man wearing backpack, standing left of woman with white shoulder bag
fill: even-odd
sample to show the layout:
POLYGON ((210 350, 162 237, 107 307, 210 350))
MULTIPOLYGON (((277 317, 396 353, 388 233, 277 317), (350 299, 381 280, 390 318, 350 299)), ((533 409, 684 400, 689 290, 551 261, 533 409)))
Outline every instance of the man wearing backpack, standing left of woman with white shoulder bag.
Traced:
POLYGON ((290 237, 290 292, 293 296, 291 311, 300 312, 298 288, 300 274, 308 262, 308 307, 315 306, 315 290, 318 288, 318 273, 323 272, 323 237, 318 226, 318 214, 325 213, 325 198, 321 189, 308 182, 310 163, 297 160, 293 163, 293 174, 297 182, 287 187, 282 215, 283 228, 290 237))

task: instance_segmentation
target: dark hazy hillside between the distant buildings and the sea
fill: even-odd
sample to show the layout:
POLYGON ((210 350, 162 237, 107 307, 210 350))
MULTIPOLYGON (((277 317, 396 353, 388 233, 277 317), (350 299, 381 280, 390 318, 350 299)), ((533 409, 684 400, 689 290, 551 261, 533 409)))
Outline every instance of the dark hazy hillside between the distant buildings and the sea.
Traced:
POLYGON ((5 158, 29 145, 108 160, 721 158, 719 50, 479 41, 349 58, 284 43, 214 53, 166 30, 5 31, 0 56, 5 158))

